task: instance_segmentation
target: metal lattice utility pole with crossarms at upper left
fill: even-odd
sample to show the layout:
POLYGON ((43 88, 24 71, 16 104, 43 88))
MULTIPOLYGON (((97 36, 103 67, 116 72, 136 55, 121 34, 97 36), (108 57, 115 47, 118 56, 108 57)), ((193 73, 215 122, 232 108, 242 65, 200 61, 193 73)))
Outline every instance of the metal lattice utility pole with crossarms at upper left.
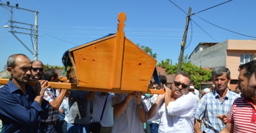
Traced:
POLYGON ((24 9, 24 8, 20 8, 18 7, 18 4, 16 4, 16 6, 11 6, 9 5, 10 2, 8 1, 7 4, 2 4, 0 3, 0 6, 5 8, 7 11, 9 11, 11 13, 11 20, 9 20, 10 25, 5 25, 4 28, 9 28, 11 27, 11 34, 13 34, 18 41, 20 41, 20 43, 26 47, 26 49, 34 55, 34 60, 37 60, 37 56, 38 56, 38 50, 37 50, 37 46, 38 46, 38 42, 37 42, 37 38, 38 38, 38 11, 32 11, 32 10, 28 10, 28 9, 24 9), (14 14, 14 9, 18 9, 18 10, 23 10, 23 11, 28 11, 28 12, 34 12, 35 13, 35 25, 32 24, 27 24, 27 23, 21 23, 18 21, 14 21, 13 19, 13 14, 14 14), (19 25, 25 25, 25 26, 30 26, 31 28, 24 28, 24 27, 18 27, 15 26, 14 24, 19 24, 19 25), (15 29, 23 29, 24 31, 29 31, 28 32, 17 32, 15 29), (31 41, 32 41, 32 37, 34 37, 34 46, 33 46, 33 42, 32 42, 32 46, 34 47, 34 52, 32 50, 29 49, 29 47, 27 47, 27 45, 25 45, 25 43, 23 43, 23 41, 20 40, 20 38, 18 38, 18 36, 16 34, 25 34, 25 35, 29 35, 31 37, 31 41))

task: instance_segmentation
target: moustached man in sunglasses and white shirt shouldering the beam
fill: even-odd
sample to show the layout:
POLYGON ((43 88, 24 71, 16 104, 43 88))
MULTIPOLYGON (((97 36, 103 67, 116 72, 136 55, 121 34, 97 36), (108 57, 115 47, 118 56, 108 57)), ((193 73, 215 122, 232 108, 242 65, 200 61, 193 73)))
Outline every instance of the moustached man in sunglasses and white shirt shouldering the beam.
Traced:
POLYGON ((159 94, 147 113, 147 120, 160 119, 159 133, 193 133, 197 99, 188 93, 191 78, 186 72, 174 76, 172 84, 163 85, 165 94, 159 94))

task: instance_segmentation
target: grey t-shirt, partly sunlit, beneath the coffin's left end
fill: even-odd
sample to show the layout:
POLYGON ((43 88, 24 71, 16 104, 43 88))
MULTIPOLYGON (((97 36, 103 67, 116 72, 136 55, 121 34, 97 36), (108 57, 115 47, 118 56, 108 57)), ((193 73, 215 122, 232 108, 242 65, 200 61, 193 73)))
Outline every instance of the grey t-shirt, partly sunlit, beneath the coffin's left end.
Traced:
POLYGON ((86 99, 88 91, 70 90, 71 95, 68 97, 68 123, 90 124, 90 104, 86 99))

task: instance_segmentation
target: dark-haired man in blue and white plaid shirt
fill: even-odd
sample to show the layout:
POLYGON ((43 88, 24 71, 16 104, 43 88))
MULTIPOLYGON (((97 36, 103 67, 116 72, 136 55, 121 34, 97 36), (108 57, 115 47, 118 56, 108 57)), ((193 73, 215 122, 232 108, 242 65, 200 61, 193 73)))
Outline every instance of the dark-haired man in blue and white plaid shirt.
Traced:
POLYGON ((216 90, 204 95, 200 99, 195 115, 195 132, 202 133, 201 121, 204 117, 206 126, 204 126, 203 133, 218 133, 225 127, 225 124, 217 118, 225 116, 229 113, 231 105, 236 98, 240 97, 238 94, 228 90, 227 86, 231 80, 230 71, 226 67, 216 67, 212 71, 212 80, 215 84, 216 90))

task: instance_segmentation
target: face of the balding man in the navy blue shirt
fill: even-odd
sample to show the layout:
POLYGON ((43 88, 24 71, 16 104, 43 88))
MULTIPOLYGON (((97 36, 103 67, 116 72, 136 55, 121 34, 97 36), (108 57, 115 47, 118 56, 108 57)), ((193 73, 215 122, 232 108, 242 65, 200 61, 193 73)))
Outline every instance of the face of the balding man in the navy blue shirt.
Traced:
POLYGON ((12 81, 21 84, 28 83, 31 77, 31 61, 24 56, 17 56, 15 65, 15 68, 11 69, 12 81))

